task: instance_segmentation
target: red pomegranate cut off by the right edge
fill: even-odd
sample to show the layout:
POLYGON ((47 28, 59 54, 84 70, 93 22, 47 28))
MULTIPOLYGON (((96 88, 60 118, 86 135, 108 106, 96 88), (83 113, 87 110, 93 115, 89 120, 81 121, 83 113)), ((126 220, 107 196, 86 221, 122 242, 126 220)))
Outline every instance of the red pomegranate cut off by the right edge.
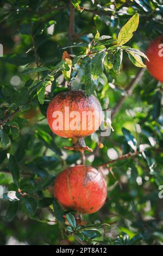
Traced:
POLYGON ((147 48, 146 65, 149 73, 163 82, 163 35, 158 36, 147 48), (162 44, 162 45, 161 45, 162 44))

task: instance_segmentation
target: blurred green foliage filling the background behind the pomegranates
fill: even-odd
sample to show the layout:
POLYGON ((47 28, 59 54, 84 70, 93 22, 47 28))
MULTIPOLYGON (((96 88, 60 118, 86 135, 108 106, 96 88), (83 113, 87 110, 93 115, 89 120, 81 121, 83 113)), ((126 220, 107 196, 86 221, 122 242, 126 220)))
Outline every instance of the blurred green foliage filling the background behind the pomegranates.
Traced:
MULTIPOLYGON (((75 10, 69 1, 1 1, 0 244, 162 244, 163 199, 158 196, 163 185, 162 84, 143 69, 127 96, 140 70, 126 52, 120 75, 105 69, 99 77, 95 95, 103 109, 114 112, 124 100, 114 112, 111 135, 103 139, 97 132, 86 138, 94 150, 86 153, 86 164, 97 168, 124 154, 141 153, 99 168, 108 179, 108 198, 100 211, 83 216, 84 224, 74 212, 65 212, 63 218, 53 200, 55 175, 81 163, 80 153, 63 149, 71 140, 52 134, 46 120, 49 101, 67 89, 57 66, 64 47, 74 59, 85 53, 97 31, 117 39, 130 17, 139 13, 139 27, 128 45, 145 53, 163 26, 161 0, 72 3, 75 10), (69 47, 74 43, 83 45, 69 47)), ((85 62, 73 68, 73 89, 84 89, 85 62)))

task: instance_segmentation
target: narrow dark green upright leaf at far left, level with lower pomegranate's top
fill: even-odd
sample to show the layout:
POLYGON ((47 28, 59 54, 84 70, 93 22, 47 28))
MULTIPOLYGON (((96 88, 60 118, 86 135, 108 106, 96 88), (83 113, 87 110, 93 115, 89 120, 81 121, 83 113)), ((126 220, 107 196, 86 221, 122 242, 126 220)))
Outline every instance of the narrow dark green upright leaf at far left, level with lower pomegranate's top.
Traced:
POLYGON ((17 188, 20 188, 20 173, 15 156, 10 155, 8 168, 12 174, 12 179, 15 185, 17 186, 17 188))

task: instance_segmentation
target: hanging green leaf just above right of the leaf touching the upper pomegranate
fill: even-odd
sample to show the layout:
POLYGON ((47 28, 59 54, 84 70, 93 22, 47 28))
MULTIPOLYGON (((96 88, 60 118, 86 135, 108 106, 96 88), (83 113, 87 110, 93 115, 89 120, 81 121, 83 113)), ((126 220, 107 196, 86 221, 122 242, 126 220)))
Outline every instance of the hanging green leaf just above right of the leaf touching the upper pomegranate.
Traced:
POLYGON ((95 57, 92 59, 92 76, 93 78, 98 78, 104 70, 104 56, 105 52, 98 52, 95 54, 95 57))

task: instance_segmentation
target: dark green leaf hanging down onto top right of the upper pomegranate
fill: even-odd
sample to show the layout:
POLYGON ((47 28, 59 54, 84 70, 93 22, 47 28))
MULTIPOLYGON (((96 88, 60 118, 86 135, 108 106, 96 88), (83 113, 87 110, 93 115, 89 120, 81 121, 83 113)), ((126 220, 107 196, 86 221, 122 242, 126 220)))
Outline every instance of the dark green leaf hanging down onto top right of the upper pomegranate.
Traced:
POLYGON ((85 65, 85 93, 91 95, 98 86, 97 78, 93 78, 92 74, 92 59, 89 58, 85 65))

